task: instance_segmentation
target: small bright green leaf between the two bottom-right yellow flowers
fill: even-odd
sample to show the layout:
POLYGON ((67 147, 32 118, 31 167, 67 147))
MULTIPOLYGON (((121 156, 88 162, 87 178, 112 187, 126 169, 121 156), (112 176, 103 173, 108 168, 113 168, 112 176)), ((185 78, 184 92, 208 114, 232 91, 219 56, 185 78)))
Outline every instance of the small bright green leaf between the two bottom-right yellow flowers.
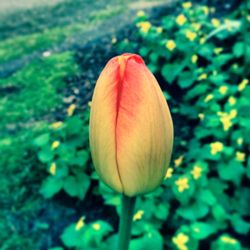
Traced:
POLYGON ((191 224, 191 234, 195 239, 202 240, 216 232, 211 224, 204 222, 195 222, 191 224))

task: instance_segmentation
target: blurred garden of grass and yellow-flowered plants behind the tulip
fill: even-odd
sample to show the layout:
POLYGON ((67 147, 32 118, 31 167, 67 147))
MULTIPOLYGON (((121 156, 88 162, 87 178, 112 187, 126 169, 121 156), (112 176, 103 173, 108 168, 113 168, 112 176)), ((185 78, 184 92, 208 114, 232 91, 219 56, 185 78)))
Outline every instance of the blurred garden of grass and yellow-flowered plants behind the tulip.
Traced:
MULTIPOLYGON (((140 54, 174 120, 131 250, 250 249, 248 0, 0 0, 0 250, 116 249, 88 143, 96 79, 140 54)), ((101 122, 101 121, 100 121, 101 122)), ((145 121, 146 122, 146 121, 145 121)))

